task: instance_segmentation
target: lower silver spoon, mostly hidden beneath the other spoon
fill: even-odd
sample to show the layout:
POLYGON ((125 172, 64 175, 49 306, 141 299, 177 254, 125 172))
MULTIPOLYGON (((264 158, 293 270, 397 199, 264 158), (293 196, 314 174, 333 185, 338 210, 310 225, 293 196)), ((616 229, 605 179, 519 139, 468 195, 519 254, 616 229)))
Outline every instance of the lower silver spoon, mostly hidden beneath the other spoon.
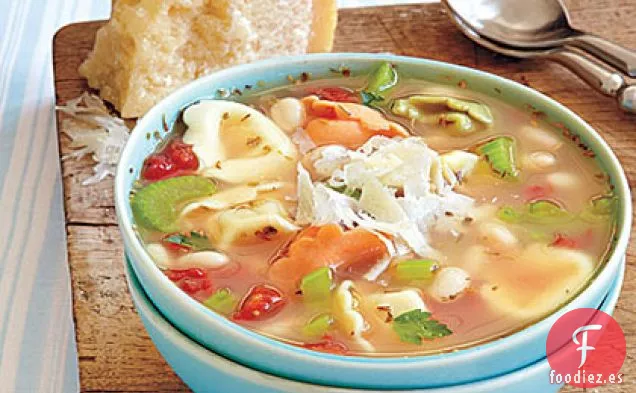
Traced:
MULTIPOLYGON (((443 0, 444 4, 446 2, 443 0)), ((459 29, 471 40, 482 45, 494 52, 501 53, 506 56, 518 58, 542 58, 556 61, 572 72, 577 74, 581 79, 586 81, 590 86, 599 92, 618 99, 621 109, 636 113, 636 81, 632 78, 617 72, 608 65, 588 58, 574 49, 567 47, 557 47, 548 49, 519 50, 515 48, 499 45, 488 38, 480 35, 452 9, 447 7, 451 20, 459 27, 459 29)))

